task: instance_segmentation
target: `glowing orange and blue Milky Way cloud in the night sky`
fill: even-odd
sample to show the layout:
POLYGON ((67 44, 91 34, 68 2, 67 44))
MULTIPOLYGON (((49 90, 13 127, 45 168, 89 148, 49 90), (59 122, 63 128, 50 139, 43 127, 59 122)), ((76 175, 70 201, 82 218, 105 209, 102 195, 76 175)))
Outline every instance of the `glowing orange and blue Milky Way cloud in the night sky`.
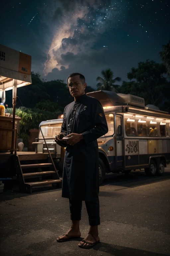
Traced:
POLYGON ((114 25, 121 12, 121 5, 112 0, 59 0, 49 6, 44 10, 45 22, 47 26, 50 24, 53 38, 47 52, 45 75, 54 68, 69 68, 77 55, 90 55, 99 35, 114 25))

